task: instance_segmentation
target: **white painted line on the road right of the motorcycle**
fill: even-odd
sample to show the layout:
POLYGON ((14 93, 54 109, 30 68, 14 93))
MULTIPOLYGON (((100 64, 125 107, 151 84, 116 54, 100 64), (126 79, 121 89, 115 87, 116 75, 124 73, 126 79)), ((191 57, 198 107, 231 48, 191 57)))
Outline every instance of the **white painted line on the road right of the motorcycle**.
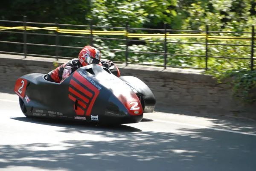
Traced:
POLYGON ((241 133, 241 134, 245 134, 245 135, 256 136, 255 133, 246 133, 246 132, 240 132, 240 131, 236 131, 236 130, 219 129, 219 128, 201 126, 201 125, 185 124, 185 123, 181 123, 181 122, 162 121, 162 120, 157 120, 157 119, 153 119, 153 120, 156 122, 164 122, 164 123, 169 123, 169 124, 185 125, 185 126, 196 127, 196 128, 204 128, 204 129, 219 130, 219 131, 225 131, 225 132, 231 132, 231 133, 241 133))

